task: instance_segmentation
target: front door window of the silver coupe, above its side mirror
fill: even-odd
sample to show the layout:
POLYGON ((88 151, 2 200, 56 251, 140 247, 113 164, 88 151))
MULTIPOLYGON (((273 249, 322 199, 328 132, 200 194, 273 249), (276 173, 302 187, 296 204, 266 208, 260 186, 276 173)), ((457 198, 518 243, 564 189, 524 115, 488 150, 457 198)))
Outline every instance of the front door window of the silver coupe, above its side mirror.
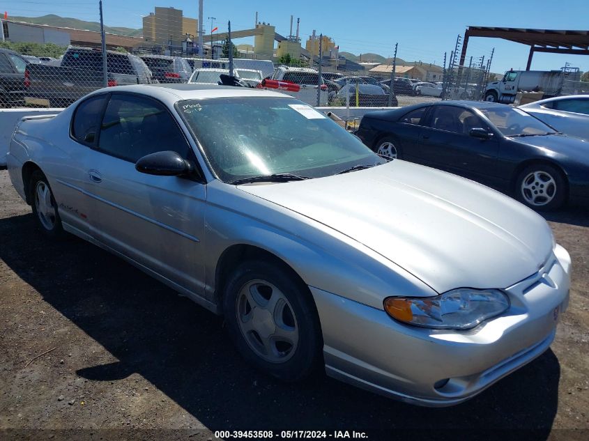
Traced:
POLYGON ((174 150, 188 157, 190 146, 167 109, 135 95, 112 95, 100 126, 98 150, 122 160, 174 150))

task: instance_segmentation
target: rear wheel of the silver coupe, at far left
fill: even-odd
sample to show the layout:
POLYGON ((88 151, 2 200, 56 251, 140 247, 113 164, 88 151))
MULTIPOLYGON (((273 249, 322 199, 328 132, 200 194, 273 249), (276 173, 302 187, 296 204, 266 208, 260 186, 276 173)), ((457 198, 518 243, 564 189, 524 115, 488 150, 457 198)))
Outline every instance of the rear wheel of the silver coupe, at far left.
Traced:
POLYGON ((50 238, 63 235, 57 203, 45 175, 38 170, 33 171, 28 188, 33 216, 41 231, 50 238))

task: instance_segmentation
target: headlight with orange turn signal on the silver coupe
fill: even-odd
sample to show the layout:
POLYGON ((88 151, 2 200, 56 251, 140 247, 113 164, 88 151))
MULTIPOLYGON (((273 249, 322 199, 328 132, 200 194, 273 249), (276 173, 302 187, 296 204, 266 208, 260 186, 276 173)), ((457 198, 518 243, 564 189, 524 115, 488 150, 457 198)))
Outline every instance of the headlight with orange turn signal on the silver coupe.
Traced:
POLYGON ((501 314, 510 300, 496 289, 459 288, 436 297, 387 297, 384 307, 389 316, 410 325, 466 330, 501 314))

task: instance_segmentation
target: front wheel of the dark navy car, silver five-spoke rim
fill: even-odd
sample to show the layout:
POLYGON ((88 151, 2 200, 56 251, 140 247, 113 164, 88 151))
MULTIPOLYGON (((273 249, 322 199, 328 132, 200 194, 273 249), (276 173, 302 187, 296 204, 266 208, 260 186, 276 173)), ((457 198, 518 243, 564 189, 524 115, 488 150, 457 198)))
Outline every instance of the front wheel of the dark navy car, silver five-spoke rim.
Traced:
POLYGON ((567 182, 560 170, 549 164, 532 164, 516 180, 517 199, 535 210, 550 211, 567 200, 567 182))

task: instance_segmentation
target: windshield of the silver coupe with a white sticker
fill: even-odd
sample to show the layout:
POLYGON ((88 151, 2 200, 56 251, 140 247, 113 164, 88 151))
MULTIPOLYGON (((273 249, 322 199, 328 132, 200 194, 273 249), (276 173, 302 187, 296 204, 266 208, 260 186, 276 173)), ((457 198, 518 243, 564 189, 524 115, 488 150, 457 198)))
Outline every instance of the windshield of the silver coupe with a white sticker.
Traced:
POLYGON ((176 110, 226 183, 278 173, 320 178, 385 162, 330 118, 292 98, 183 100, 176 110))

